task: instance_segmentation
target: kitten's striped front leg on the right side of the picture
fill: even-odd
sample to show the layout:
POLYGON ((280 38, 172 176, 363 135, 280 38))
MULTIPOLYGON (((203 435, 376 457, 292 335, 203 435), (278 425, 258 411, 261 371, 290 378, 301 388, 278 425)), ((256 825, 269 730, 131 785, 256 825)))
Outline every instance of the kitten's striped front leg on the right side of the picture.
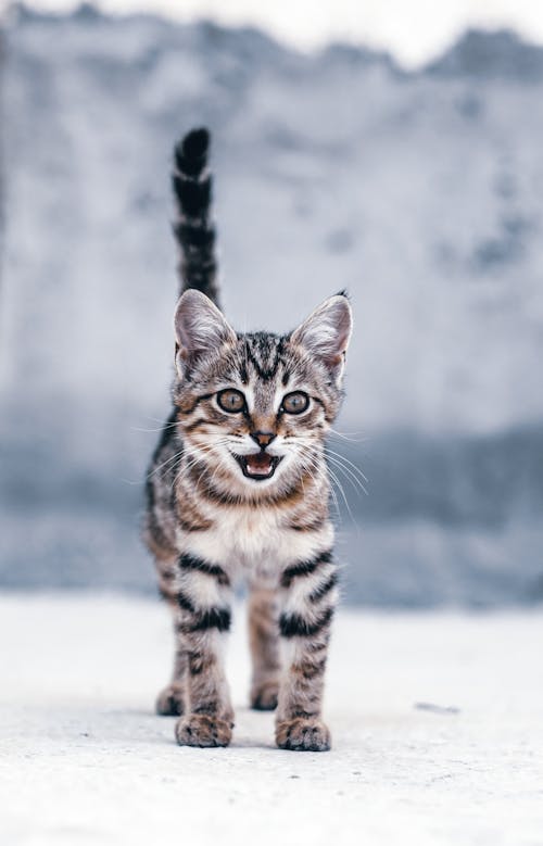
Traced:
POLYGON ((276 742, 282 749, 330 748, 321 703, 336 584, 337 568, 329 551, 292 564, 282 573, 279 630, 288 659, 276 722, 276 742))

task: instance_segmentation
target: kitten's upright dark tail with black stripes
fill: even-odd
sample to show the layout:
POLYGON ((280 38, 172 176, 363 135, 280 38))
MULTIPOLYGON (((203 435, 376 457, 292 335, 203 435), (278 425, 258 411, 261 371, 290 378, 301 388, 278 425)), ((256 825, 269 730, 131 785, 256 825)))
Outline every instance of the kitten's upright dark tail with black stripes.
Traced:
POLYGON ((174 233, 181 253, 181 293, 195 288, 218 305, 209 149, 210 132, 205 128, 191 129, 175 148, 172 182, 178 217, 174 233))

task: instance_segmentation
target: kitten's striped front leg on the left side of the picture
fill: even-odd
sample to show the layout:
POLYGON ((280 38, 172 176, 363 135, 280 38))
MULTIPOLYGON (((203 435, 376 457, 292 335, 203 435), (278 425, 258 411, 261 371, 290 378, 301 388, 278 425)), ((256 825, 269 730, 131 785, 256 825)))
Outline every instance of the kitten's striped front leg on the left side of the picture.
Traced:
POLYGON ((230 581, 225 570, 192 555, 179 558, 177 648, 186 656, 187 711, 177 721, 180 746, 228 746, 233 711, 223 667, 230 628, 230 581))

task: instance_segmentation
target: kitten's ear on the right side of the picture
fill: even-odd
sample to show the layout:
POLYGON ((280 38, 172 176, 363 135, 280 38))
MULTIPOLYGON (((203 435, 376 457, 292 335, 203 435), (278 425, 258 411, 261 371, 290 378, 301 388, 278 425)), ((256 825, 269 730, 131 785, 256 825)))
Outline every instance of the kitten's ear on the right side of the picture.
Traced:
POLYGON ((349 300, 343 294, 337 294, 320 303, 307 319, 294 329, 290 340, 304 346, 315 358, 319 358, 339 382, 352 328, 353 315, 349 300))

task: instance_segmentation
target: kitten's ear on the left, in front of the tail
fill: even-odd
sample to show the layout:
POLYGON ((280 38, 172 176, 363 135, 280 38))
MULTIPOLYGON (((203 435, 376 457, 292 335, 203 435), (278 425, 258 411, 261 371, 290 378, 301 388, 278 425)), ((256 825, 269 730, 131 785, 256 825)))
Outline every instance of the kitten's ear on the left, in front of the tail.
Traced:
POLYGON ((176 356, 179 376, 202 355, 216 353, 225 343, 236 342, 236 332, 209 296, 190 289, 175 310, 176 356))

